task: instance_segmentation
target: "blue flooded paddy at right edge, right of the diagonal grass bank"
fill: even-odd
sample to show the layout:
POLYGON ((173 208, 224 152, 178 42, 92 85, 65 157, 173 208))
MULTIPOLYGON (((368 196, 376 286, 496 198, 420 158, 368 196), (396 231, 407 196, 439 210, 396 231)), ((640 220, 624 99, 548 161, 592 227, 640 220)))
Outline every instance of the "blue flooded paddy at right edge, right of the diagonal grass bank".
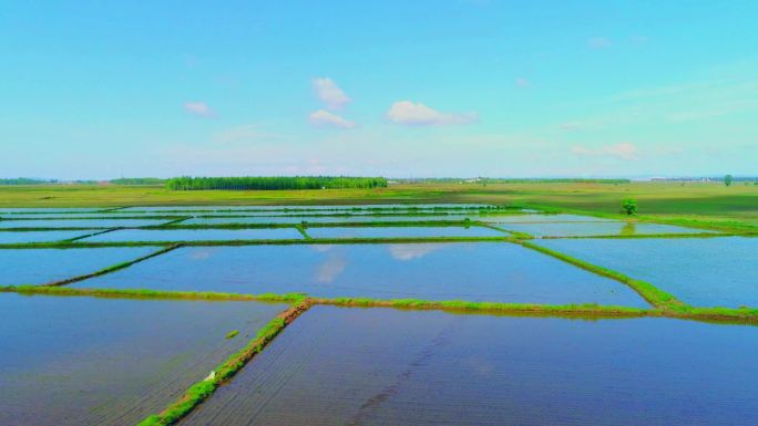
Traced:
POLYGON ((758 306, 758 238, 543 240, 697 306, 758 306))

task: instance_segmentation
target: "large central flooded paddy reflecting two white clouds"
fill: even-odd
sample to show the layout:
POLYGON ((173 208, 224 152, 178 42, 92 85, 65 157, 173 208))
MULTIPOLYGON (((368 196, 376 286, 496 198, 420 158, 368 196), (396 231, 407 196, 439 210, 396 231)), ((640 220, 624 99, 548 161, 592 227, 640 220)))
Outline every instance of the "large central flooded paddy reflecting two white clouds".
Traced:
POLYGON ((506 242, 181 248, 73 285, 648 306, 624 284, 506 242))

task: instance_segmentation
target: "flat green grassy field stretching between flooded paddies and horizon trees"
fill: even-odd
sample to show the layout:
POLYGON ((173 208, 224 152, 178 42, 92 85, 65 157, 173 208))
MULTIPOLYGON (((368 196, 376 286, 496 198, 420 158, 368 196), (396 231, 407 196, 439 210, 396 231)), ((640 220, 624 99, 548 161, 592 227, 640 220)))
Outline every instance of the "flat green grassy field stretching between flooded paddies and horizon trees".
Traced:
POLYGON ((624 198, 638 200, 642 217, 739 221, 758 227, 758 186, 744 184, 418 184, 257 191, 176 191, 161 186, 115 185, 0 186, 0 207, 485 202, 616 215, 624 198))

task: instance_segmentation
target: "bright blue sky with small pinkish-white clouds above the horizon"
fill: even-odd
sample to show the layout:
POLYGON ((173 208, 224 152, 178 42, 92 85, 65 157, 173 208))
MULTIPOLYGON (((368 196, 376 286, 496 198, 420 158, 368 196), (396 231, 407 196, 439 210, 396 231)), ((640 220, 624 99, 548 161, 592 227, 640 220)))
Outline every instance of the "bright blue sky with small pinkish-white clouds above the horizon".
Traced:
POLYGON ((11 1, 0 177, 756 175, 758 2, 11 1))

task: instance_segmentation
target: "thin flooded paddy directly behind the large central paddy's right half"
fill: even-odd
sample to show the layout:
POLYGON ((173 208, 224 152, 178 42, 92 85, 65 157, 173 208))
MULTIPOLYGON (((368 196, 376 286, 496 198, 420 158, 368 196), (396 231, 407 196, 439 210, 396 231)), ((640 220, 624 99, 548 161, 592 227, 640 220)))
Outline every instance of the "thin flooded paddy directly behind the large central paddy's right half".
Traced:
POLYGON ((313 238, 424 238, 424 237, 504 237, 506 233, 484 227, 336 227, 308 228, 313 238))

